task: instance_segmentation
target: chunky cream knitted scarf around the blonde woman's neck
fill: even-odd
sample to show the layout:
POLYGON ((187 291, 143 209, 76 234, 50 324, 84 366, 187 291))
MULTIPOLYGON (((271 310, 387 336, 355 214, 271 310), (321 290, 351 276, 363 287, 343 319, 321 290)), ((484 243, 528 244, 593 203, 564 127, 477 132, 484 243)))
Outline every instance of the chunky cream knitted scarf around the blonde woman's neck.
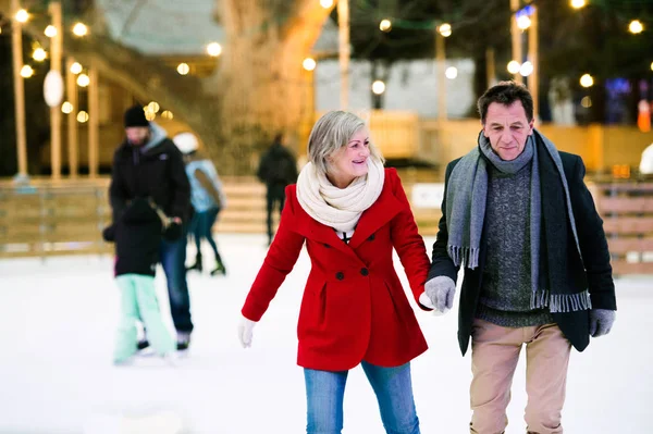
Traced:
POLYGON ((360 214, 381 195, 383 163, 368 158, 368 174, 337 188, 312 163, 307 163, 297 179, 297 200, 308 215, 338 232, 354 231, 360 214))

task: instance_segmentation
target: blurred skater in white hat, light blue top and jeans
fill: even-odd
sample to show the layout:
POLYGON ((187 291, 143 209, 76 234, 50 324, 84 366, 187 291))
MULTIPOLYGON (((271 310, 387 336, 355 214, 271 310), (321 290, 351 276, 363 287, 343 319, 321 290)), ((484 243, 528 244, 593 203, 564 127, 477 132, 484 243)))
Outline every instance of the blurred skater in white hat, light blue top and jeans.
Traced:
POLYGON ((184 154, 186 174, 190 183, 190 203, 195 209, 188 233, 193 234, 197 253, 195 263, 187 270, 202 271, 200 245, 201 239, 206 238, 215 257, 215 266, 211 270, 211 275, 225 275, 226 269, 211 233, 218 214, 226 207, 226 196, 218 177, 218 171, 213 162, 199 152, 199 142, 193 133, 177 134, 172 141, 184 154))

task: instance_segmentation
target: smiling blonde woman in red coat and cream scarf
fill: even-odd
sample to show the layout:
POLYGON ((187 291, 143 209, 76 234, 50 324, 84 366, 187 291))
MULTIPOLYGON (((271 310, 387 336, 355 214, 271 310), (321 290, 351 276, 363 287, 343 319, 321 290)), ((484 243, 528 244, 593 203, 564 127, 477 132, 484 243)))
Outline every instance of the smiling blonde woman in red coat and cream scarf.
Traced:
MULTIPOLYGON (((427 343, 393 266, 393 248, 416 300, 430 261, 394 169, 365 122, 334 111, 313 126, 310 162, 286 188, 279 231, 243 307, 244 347, 306 243, 297 363, 305 368, 307 433, 340 433, 347 372, 362 365, 389 433, 419 433, 410 360, 427 343)), ((420 306, 421 307, 421 306, 420 306)), ((423 307, 422 307, 423 308, 423 307)))

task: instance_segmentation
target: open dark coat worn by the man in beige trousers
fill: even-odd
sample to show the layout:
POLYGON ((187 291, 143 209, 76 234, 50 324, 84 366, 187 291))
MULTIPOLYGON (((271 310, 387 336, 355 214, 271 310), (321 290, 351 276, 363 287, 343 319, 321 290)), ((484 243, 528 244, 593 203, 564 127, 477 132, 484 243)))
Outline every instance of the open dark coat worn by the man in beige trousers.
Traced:
MULTIPOLYGON (((547 179, 546 182, 558 179, 557 182, 560 182, 559 174, 555 171, 551 157, 542 156, 543 153, 539 153, 538 160, 540 162, 542 179, 547 179), (544 161, 544 159, 549 159, 550 161, 544 161)), ((603 231, 603 221, 599 216, 592 196, 583 182, 586 173, 584 164, 578 156, 567 152, 559 152, 559 154, 569 187, 571 208, 576 220, 576 231, 578 233, 582 258, 576 248, 576 241, 566 211, 565 197, 551 194, 552 190, 562 191, 562 189, 546 189, 546 182, 542 182, 543 239, 541 241, 542 251, 540 257, 546 263, 551 264, 551 266, 558 270, 558 272, 549 273, 546 270, 542 270, 540 275, 542 278, 550 280, 546 287, 565 285, 571 288, 574 293, 579 293, 588 288, 593 309, 616 310, 615 286, 612 278, 607 240, 603 231), (545 189, 546 191, 544 191, 545 189), (566 224, 560 224, 563 222, 566 224), (547 234, 550 234, 549 240, 547 234), (551 241, 551 239, 560 238, 563 240, 559 243, 551 241)), ((446 189, 452 171, 459 160, 452 161, 446 168, 442 219, 439 224, 438 240, 433 244, 429 278, 446 275, 454 282, 457 280, 458 269, 446 252, 448 240, 446 228, 446 189)), ((471 326, 481 293, 486 250, 488 246, 483 234, 481 236, 479 266, 475 270, 465 269, 458 309, 458 343, 463 355, 465 355, 469 346, 471 326)), ((582 351, 589 345, 589 311, 553 313, 553 319, 576 349, 582 351)))

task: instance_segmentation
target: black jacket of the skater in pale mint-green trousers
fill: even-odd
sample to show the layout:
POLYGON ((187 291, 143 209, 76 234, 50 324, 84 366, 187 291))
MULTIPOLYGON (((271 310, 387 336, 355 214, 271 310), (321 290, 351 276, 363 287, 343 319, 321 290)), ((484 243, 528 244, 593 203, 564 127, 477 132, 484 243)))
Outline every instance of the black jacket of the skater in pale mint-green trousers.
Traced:
POLYGON ((102 236, 115 243, 114 274, 155 275, 161 245, 161 219, 147 199, 137 198, 102 236))

